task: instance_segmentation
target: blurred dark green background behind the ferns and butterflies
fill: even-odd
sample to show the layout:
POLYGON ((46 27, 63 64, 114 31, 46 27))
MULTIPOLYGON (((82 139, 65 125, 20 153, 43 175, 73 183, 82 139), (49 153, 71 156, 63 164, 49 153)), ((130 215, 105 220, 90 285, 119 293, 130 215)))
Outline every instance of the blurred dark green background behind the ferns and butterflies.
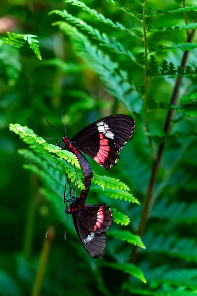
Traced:
MULTIPOLYGON (((128 28, 141 29, 135 19, 131 19, 105 1, 84 2, 113 21, 119 21, 128 28)), ((179 5, 171 0, 156 2, 148 1, 148 5, 154 9, 164 10, 179 8, 179 5)), ((134 1, 122 0, 119 3, 131 11, 141 12, 140 6, 134 1)), ((187 5, 195 5, 195 1, 187 1, 187 5)), ((57 26, 51 25, 61 20, 57 15, 48 16, 53 9, 68 9, 69 13, 99 28, 101 32, 106 32, 111 37, 115 36, 134 54, 143 51, 143 44, 135 37, 128 38, 122 32, 96 22, 84 11, 64 1, 5 0, 1 3, 1 37, 6 37, 7 31, 38 35, 42 55, 42 60, 38 60, 27 44, 21 49, 8 45, 0 47, 0 295, 2 296, 31 295, 46 229, 58 222, 53 208, 39 192, 41 186, 39 178, 22 168, 24 159, 17 154, 17 149, 27 147, 17 135, 9 131, 8 125, 10 123, 27 125, 41 137, 55 137, 60 140, 61 133, 50 127, 46 123, 46 118, 64 130, 61 121, 62 108, 68 137, 72 137, 82 127, 101 117, 115 113, 131 115, 122 104, 107 93, 98 76, 74 54, 69 39, 57 26)), ((192 12, 189 18, 194 19, 192 12)), ((155 27, 165 27, 179 24, 182 20, 182 14, 173 14, 150 18, 147 22, 155 27)), ((152 33, 149 35, 149 40, 160 41, 170 46, 174 43, 184 43, 186 34, 186 31, 152 33)), ((143 70, 140 67, 116 56, 115 53, 102 50, 110 54, 113 61, 117 60, 122 69, 129 72, 136 84, 143 84, 143 70)), ((196 53, 195 49, 190 51, 190 65, 194 65, 196 53)), ((160 51, 156 56, 159 61, 165 58, 179 65, 182 55, 181 50, 174 50, 160 51)), ((149 95, 154 97, 156 102, 169 102, 174 81, 175 78, 151 80, 149 95)), ((196 78, 184 78, 179 96, 195 91, 197 92, 196 78)), ((150 176, 151 157, 147 137, 140 124, 144 122, 142 102, 136 100, 133 106, 131 104, 131 109, 138 113, 139 122, 136 121, 136 131, 131 141, 121 151, 117 167, 105 172, 94 161, 90 162, 97 173, 125 182, 130 187, 131 193, 143 202, 150 176)), ((149 111, 151 131, 157 133, 162 130, 165 115, 166 110, 163 109, 149 111)), ((196 120, 181 116, 180 114, 175 116, 177 123, 173 126, 173 132, 188 134, 195 129, 196 120)), ((52 140, 51 143, 55 144, 52 140)), ((155 141, 154 147, 157 145, 158 142, 155 141)), ((173 138, 168 141, 156 185, 155 199, 165 197, 169 202, 195 202, 196 145, 194 136, 173 138)), ((96 201, 106 201, 120 209, 130 217, 131 223, 128 229, 132 232, 137 230, 141 206, 106 198, 104 192, 101 196, 99 194, 95 196, 90 190, 89 202, 96 201)), ((64 215, 65 205, 62 206, 64 215)), ((150 220, 147 230, 156 234, 160 234, 161 229, 166 235, 176 233, 177 239, 182 236, 189 238, 196 236, 197 226, 194 221, 197 220, 197 213, 192 229, 187 222, 180 225, 171 222, 170 219, 167 222, 161 221, 160 214, 161 212, 159 214, 157 212, 150 220)), ((55 227, 55 237, 52 241, 41 295, 123 295, 120 286, 124 282, 124 274, 103 267, 86 254, 74 233, 71 220, 66 241, 63 225, 55 227)), ((131 256, 131 249, 131 245, 108 237, 105 259, 127 262, 131 256)), ((194 262, 183 263, 180 258, 176 260, 168 255, 162 257, 159 252, 148 252, 140 253, 137 265, 149 262, 151 267, 164 263, 174 268, 195 267, 194 262)))

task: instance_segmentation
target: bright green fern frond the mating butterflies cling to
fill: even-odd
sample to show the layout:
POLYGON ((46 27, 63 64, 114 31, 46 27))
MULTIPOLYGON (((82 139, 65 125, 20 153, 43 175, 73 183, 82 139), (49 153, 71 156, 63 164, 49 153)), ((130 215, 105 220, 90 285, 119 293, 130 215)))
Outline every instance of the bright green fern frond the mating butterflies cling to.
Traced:
MULTIPOLYGON (((34 173, 38 174, 43 181, 45 179, 48 180, 49 178, 51 178, 52 183, 53 179, 56 180, 55 172, 61 173, 61 176, 63 176, 64 180, 62 180, 61 178, 61 181, 59 182, 60 175, 58 175, 58 180, 56 181, 59 183, 59 185, 62 185, 64 188, 65 173, 68 174, 68 177, 71 179, 72 182, 76 178, 76 172, 73 167, 73 165, 75 165, 75 167, 77 168, 77 175, 79 178, 78 187, 84 189, 80 165, 78 163, 76 156, 73 153, 66 150, 61 150, 61 148, 58 146, 46 143, 43 138, 38 137, 33 132, 33 130, 30 130, 28 127, 22 127, 19 124, 10 124, 10 130, 18 134, 21 137, 21 139, 24 142, 26 142, 33 150, 33 152, 37 155, 27 150, 19 150, 19 153, 24 157, 33 160, 34 163, 36 163, 39 167, 42 168, 39 169, 34 165, 26 165, 26 169, 29 169, 34 173), (52 155, 51 153, 57 155, 58 158, 52 155), (64 160, 66 160, 66 162, 64 160), (69 163, 71 163, 72 166, 69 163), (47 174, 51 176, 47 176, 47 174)), ((49 181, 47 182, 50 184, 49 181)), ((139 204, 138 200, 134 198, 129 192, 127 192, 129 190, 129 187, 117 179, 94 174, 93 182, 97 184, 97 186, 95 187, 95 191, 99 191, 98 188, 100 186, 102 188, 101 190, 106 189, 107 195, 109 195, 112 198, 122 199, 124 197, 125 200, 129 200, 139 204)))

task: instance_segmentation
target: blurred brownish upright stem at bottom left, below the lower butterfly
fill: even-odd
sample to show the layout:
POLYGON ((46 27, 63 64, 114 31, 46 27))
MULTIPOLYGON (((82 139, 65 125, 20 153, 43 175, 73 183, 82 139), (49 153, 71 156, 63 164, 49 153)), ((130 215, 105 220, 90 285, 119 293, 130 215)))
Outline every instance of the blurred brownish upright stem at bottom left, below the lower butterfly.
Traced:
MULTIPOLYGON (((50 229, 50 228, 51 227, 49 227, 48 229, 50 229)), ((47 231, 48 231, 48 229, 47 229, 47 231)), ((42 247, 42 251, 41 251, 41 255, 40 255, 39 266, 38 266, 37 273, 35 276, 35 281, 33 284, 31 296, 39 296, 40 295, 40 291, 42 288, 42 282, 43 282, 44 274, 45 274, 45 270, 46 270, 46 265, 48 262, 49 252, 51 249, 51 242, 52 242, 54 236, 55 236, 55 230, 51 229, 48 233, 47 238, 44 239, 44 243, 43 243, 43 247, 42 247)))

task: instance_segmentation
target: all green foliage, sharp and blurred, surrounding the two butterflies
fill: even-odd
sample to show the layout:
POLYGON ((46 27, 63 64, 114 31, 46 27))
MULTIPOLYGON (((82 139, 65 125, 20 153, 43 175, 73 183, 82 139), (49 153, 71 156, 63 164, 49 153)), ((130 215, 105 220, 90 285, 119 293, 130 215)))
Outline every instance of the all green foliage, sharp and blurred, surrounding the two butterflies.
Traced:
POLYGON ((1 5, 0 295, 197 295, 195 2, 8 0, 1 5), (83 249, 72 219, 66 241, 66 223, 45 240, 47 228, 64 218, 65 172, 74 180, 72 155, 42 139, 61 139, 46 118, 63 130, 62 108, 68 137, 110 114, 136 121, 117 167, 106 172, 90 160, 95 182, 88 202, 116 209, 100 261, 83 249), (174 113, 164 129, 169 110, 174 113), (9 131, 10 123, 20 124, 11 130, 26 143, 9 131), (157 178, 150 189, 151 176, 157 178), (144 204, 149 211, 143 211, 144 204), (143 217, 146 227, 140 231, 143 217), (136 236, 142 233, 143 243, 136 236), (141 248, 134 260, 136 245, 141 248), (43 282, 39 268, 45 269, 43 282))

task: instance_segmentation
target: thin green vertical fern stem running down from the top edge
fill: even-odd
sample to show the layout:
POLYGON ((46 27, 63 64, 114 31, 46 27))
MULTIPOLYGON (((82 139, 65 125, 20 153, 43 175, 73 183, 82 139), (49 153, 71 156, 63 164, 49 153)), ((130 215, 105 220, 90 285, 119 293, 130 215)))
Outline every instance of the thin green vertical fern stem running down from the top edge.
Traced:
MULTIPOLYGON (((147 96, 148 96, 148 49, 147 49, 147 36, 146 36, 146 4, 147 0, 143 3, 143 34, 144 34, 144 55, 145 55, 145 68, 144 68, 144 109, 145 109, 145 125, 146 125, 146 132, 149 133, 149 124, 148 124, 148 106, 147 106, 147 96)), ((151 150, 152 159, 154 157, 153 154, 153 146, 151 138, 148 136, 148 143, 151 150)))

